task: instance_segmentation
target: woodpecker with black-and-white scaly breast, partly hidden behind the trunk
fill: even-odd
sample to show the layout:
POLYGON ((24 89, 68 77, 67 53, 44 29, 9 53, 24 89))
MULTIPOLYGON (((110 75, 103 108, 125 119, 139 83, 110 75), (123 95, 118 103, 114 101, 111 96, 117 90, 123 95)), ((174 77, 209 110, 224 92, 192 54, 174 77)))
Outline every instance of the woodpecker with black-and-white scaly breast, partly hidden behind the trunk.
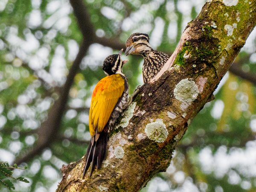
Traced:
POLYGON ((126 41, 125 56, 129 54, 142 55, 143 63, 143 81, 149 81, 157 75, 163 65, 170 58, 169 55, 152 49, 149 45, 148 34, 134 33, 126 41))

